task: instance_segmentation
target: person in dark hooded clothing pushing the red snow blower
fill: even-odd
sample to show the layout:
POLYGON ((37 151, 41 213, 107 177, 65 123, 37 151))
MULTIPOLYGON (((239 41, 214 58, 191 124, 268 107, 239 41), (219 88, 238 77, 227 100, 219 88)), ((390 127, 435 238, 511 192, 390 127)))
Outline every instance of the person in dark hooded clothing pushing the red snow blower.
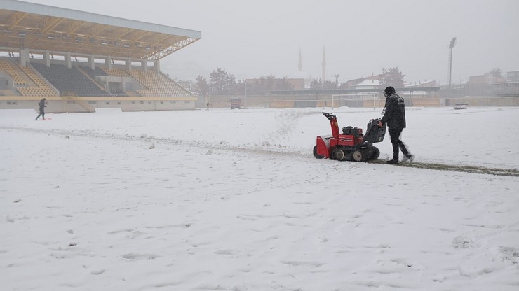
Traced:
POLYGON ((379 127, 382 127, 384 123, 387 123, 389 127, 389 136, 391 137, 391 143, 393 144, 393 159, 390 159, 386 163, 398 164, 398 148, 402 150, 404 157, 402 162, 409 160, 413 161, 414 155, 409 152, 409 149, 400 139, 403 129, 405 129, 405 103, 404 99, 395 92, 395 88, 389 86, 384 90, 384 96, 386 97, 386 106, 384 107, 384 116, 379 121, 379 127))

